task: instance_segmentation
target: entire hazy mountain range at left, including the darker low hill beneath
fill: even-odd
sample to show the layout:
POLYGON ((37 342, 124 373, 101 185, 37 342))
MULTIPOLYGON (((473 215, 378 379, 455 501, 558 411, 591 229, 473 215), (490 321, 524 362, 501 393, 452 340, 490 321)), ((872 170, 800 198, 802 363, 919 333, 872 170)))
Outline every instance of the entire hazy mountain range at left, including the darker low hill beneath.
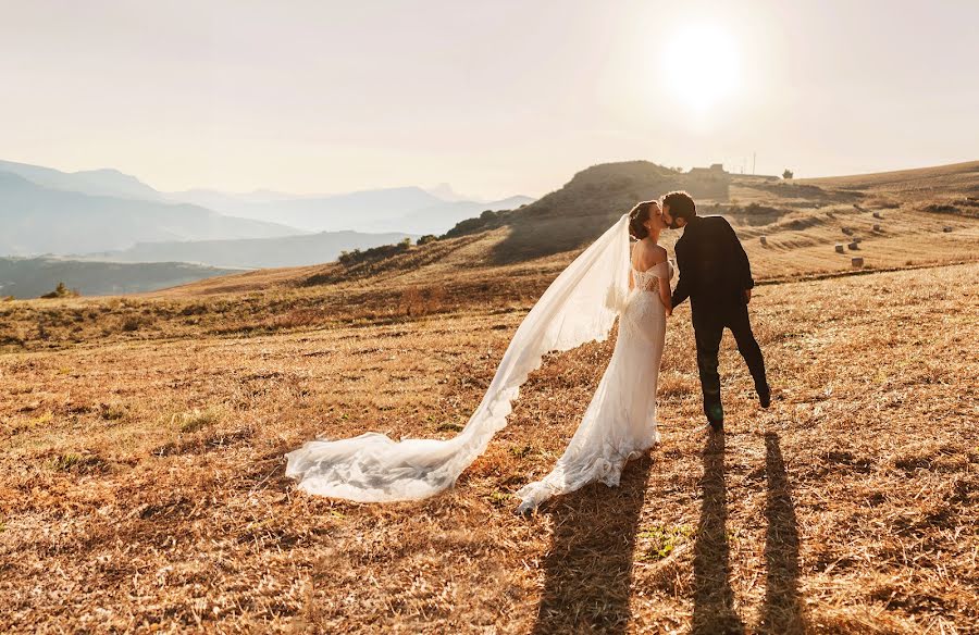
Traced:
POLYGON ((28 297, 84 273, 74 283, 84 294, 132 292, 226 273, 215 266, 318 264, 345 250, 442 234, 485 210, 531 200, 468 200, 447 184, 322 196, 165 192, 112 169, 62 172, 0 161, 0 257, 15 257, 0 267, 7 276, 0 286, 28 297), (65 256, 73 260, 59 258, 65 256), (161 265, 129 267, 138 263, 161 265))

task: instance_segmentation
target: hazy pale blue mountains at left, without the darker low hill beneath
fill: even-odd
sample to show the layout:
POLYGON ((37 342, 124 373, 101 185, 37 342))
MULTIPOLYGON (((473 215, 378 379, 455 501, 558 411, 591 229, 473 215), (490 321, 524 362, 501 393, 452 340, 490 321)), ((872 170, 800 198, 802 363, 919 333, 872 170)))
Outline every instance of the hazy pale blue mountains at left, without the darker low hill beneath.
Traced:
MULTIPOLYGON (((432 191, 412 186, 317 196, 271 190, 164 192, 117 170, 70 173, 0 161, 0 220, 4 223, 0 254, 121 251, 138 242, 322 232, 442 234, 485 210, 516 209, 532 200, 469 200, 447 184, 432 191)), ((340 245, 344 237, 354 235, 344 234, 332 242, 340 245)))

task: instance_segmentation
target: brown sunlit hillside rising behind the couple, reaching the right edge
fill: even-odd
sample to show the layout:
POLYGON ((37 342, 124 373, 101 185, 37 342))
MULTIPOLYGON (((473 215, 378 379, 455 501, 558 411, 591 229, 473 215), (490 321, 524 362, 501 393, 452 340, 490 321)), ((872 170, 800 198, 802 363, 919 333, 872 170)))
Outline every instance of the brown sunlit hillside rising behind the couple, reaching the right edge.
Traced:
MULTIPOLYGON (((864 258, 862 271, 959 262, 977 258, 972 246, 979 240, 979 199, 969 194, 979 187, 976 165, 910 171, 906 176, 917 183, 915 188, 896 180, 866 190, 841 187, 832 179, 816 185, 740 176, 733 176, 729 187, 718 187, 645 161, 597 165, 538 201, 484 213, 458 224, 437 241, 392 258, 350 266, 327 263, 293 274, 255 272, 213 278, 168 295, 245 291, 267 284, 300 289, 317 281, 336 286, 336 292, 345 285, 380 289, 392 281, 469 288, 487 275, 495 277, 497 271, 515 281, 526 279, 528 292, 533 292, 537 286, 530 281, 557 275, 635 201, 677 187, 694 194, 699 213, 731 221, 758 281, 851 272, 852 257, 864 258), (837 252, 838 245, 843 245, 843 253, 837 252)), ((679 236, 667 231, 662 244, 671 248, 679 236)))

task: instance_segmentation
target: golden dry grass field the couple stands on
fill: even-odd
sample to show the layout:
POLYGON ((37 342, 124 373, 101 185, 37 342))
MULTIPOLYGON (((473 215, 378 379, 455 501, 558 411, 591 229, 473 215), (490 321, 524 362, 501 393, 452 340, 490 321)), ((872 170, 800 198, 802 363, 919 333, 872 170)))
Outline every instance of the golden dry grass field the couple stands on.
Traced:
POLYGON ((816 184, 864 187, 859 207, 735 188, 721 211, 778 210, 731 213, 764 283, 772 408, 728 336, 728 432, 705 432, 684 306, 662 443, 621 487, 530 518, 512 493, 561 453, 611 341, 549 358, 432 499, 310 497, 283 453, 455 434, 573 252, 495 265, 500 227, 348 282, 309 282, 330 264, 0 302, 0 631, 979 633, 979 222, 962 174, 927 197, 816 184), (862 275, 833 251, 842 227, 864 238, 862 275))

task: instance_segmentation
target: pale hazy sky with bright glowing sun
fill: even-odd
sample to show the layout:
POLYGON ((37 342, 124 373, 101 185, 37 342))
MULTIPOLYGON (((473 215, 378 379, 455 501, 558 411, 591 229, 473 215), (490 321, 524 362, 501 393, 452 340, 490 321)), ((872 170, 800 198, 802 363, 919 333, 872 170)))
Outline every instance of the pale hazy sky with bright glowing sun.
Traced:
POLYGON ((979 1, 0 0, 0 159, 158 189, 979 159, 979 1))

